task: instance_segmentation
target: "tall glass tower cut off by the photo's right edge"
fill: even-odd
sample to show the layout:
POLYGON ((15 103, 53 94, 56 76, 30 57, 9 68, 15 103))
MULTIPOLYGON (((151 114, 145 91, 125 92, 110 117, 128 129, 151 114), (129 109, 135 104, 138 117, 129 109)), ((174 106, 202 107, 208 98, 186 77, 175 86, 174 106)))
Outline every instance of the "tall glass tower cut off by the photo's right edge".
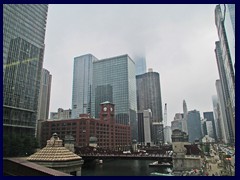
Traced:
POLYGON ((235 142, 235 5, 222 4, 215 8, 215 24, 219 42, 216 58, 226 103, 231 143, 235 142), (221 62, 220 62, 221 61, 221 62), (222 74, 221 74, 222 73, 222 74), (224 73, 224 75, 223 75, 224 73), (229 115, 228 115, 229 113, 229 115))

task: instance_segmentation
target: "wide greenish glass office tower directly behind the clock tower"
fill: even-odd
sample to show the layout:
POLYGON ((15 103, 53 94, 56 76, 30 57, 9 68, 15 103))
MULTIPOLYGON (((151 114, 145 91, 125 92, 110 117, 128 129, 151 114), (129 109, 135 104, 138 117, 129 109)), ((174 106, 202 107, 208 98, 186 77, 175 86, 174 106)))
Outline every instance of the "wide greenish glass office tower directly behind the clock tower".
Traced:
POLYGON ((132 139, 137 139, 137 101, 135 63, 121 55, 93 63, 91 114, 99 117, 99 104, 115 104, 116 122, 130 124, 132 139))

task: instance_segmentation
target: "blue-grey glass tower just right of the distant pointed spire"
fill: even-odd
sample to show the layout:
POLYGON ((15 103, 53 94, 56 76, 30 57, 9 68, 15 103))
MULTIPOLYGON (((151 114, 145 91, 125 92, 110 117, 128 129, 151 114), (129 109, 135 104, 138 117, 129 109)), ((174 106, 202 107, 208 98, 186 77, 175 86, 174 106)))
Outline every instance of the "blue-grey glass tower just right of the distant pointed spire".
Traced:
POLYGON ((202 138, 200 113, 197 110, 188 112, 187 119, 189 142, 195 142, 202 138))

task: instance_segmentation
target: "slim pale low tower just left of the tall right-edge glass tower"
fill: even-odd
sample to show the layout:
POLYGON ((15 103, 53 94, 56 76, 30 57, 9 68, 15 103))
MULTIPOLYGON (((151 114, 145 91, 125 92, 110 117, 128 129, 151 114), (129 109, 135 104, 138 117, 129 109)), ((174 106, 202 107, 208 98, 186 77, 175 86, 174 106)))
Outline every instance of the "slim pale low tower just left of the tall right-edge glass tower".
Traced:
POLYGON ((223 95, 223 89, 222 89, 222 84, 220 80, 216 80, 216 90, 217 90, 217 96, 219 99, 219 108, 220 108, 220 114, 219 114, 219 119, 220 119, 220 126, 221 126, 221 132, 222 132, 222 140, 224 143, 229 143, 230 142, 230 133, 229 133, 229 124, 228 124, 228 119, 227 119, 227 108, 226 104, 224 101, 224 95, 223 95))

